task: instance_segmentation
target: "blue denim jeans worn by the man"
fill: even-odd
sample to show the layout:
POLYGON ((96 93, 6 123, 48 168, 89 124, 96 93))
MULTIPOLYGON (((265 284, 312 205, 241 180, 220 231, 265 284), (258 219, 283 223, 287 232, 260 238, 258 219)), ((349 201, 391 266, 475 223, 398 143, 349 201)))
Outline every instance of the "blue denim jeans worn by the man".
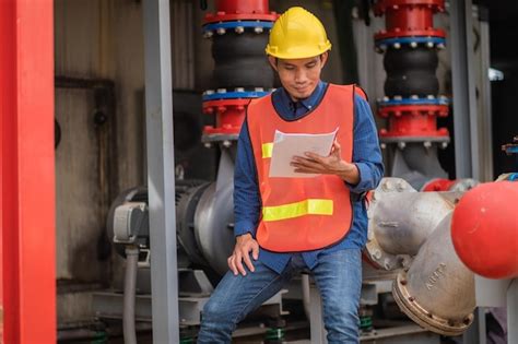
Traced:
MULTIPOLYGON (((227 272, 203 308, 198 343, 231 343, 237 323, 282 289, 292 276, 306 268, 301 254, 294 254, 281 274, 259 261, 256 271, 235 276, 227 272)), ((362 287, 360 249, 323 252, 311 270, 320 290, 323 324, 328 342, 358 343, 357 316, 362 287)))

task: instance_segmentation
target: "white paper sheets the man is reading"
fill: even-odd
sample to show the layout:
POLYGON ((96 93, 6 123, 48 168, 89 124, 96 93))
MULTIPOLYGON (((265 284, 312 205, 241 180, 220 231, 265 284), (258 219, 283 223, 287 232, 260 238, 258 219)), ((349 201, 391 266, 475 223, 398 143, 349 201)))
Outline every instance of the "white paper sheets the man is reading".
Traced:
POLYGON ((323 134, 284 133, 275 130, 270 177, 309 178, 319 176, 318 174, 295 173, 295 167, 291 166, 290 163, 294 156, 306 157, 306 152, 322 156, 329 155, 337 132, 338 128, 333 132, 323 134))

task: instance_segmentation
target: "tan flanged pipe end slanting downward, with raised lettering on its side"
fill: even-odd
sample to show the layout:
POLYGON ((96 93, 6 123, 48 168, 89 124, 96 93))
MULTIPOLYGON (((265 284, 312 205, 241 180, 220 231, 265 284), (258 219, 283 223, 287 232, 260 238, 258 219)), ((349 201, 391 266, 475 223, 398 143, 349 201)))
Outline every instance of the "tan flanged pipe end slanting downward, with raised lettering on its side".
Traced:
POLYGON ((448 214, 401 271, 392 294, 401 310, 423 328, 444 335, 459 335, 473 321, 474 276, 456 254, 448 214))

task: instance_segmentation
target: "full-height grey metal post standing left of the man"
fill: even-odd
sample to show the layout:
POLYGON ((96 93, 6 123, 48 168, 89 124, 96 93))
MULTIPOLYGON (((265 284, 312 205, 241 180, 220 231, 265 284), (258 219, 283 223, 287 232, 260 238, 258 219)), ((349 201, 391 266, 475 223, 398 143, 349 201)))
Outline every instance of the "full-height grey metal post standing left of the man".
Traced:
POLYGON ((179 343, 169 1, 142 3, 153 343, 179 343))

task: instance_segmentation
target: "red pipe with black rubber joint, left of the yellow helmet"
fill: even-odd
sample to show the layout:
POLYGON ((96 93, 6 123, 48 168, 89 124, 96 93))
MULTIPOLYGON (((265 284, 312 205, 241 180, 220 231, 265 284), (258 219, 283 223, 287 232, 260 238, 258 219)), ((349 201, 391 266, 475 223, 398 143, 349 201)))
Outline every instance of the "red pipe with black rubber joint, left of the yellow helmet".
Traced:
POLYGON ((204 128, 203 141, 237 139, 251 98, 273 87, 273 71, 264 59, 268 33, 278 14, 268 0, 217 0, 215 13, 207 13, 203 36, 212 40, 213 88, 203 93, 203 112, 215 115, 215 126, 204 128))

